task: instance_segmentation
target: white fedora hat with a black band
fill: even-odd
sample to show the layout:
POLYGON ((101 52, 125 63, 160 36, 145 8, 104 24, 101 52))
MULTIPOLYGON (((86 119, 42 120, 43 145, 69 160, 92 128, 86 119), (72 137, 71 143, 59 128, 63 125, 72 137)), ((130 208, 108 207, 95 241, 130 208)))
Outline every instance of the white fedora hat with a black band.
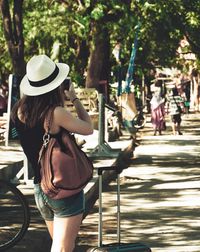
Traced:
POLYGON ((23 94, 37 96, 48 93, 64 81, 69 73, 69 66, 54 63, 46 55, 33 56, 26 66, 26 75, 20 83, 23 94))

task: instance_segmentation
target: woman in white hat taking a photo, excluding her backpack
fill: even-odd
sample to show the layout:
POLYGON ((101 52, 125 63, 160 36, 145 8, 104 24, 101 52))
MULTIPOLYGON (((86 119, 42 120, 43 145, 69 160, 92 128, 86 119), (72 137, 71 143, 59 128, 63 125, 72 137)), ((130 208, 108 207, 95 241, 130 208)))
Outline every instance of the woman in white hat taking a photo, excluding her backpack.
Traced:
POLYGON ((12 117, 34 170, 35 200, 53 240, 51 252, 72 252, 84 212, 84 193, 81 191, 60 200, 45 195, 40 187, 38 155, 43 143, 45 117, 52 108, 55 108, 50 128, 53 137, 59 136, 61 128, 82 135, 92 134, 92 122, 76 97, 73 85, 68 91, 61 85, 69 73, 68 65, 55 64, 46 55, 38 55, 31 58, 26 69, 20 84, 24 96, 14 106, 12 117), (65 110, 64 94, 75 106, 78 118, 65 110))

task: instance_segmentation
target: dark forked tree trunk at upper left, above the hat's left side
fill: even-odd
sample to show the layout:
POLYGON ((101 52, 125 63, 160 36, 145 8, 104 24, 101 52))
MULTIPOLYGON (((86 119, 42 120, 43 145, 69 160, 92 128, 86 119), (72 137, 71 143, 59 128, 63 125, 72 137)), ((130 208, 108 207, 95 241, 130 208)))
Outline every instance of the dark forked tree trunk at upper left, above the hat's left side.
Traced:
POLYGON ((8 0, 1 0, 1 11, 3 16, 4 35, 11 56, 13 73, 18 76, 25 74, 24 61, 24 39, 22 24, 23 0, 14 0, 13 13, 10 14, 8 0))

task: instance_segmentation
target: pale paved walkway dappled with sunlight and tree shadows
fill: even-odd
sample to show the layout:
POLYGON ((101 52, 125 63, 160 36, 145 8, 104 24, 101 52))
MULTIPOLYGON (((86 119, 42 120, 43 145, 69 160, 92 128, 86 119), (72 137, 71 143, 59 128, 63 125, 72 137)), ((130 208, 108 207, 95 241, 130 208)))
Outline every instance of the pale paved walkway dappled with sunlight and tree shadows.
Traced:
MULTIPOLYGON (((121 174, 123 242, 145 242, 153 252, 200 251, 200 115, 184 115, 182 128, 182 136, 172 136, 169 126, 162 136, 153 136, 148 122, 138 133, 141 143, 135 158, 121 174)), ((121 148, 128 143, 125 138, 109 144, 121 148)), ((114 158, 99 162, 111 165, 114 158)), ((50 240, 35 207, 32 186, 23 190, 30 202, 31 225, 24 239, 9 251, 48 252, 50 240)), ((104 190, 104 241, 108 243, 116 238, 115 183, 104 190)), ((81 226, 76 252, 97 244, 97 222, 95 204, 81 226)))

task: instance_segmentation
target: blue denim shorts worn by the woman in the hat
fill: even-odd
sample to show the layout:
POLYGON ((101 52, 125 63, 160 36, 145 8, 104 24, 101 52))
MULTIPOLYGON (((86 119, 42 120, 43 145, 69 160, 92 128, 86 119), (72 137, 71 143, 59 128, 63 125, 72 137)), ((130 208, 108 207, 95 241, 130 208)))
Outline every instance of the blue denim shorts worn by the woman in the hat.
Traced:
POLYGON ((36 205, 46 221, 54 217, 64 218, 78 215, 85 210, 84 191, 63 199, 51 199, 41 189, 40 184, 34 185, 36 205))

